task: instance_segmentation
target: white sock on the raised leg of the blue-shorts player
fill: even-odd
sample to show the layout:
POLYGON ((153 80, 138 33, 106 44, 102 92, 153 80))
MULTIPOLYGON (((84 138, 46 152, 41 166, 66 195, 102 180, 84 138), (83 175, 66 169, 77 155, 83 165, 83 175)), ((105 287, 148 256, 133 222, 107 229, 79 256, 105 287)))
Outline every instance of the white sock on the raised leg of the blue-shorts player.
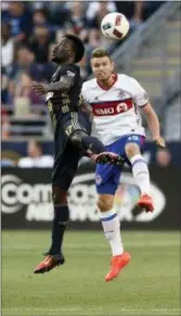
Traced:
POLYGON ((132 164, 132 175, 135 184, 140 188, 141 194, 151 193, 150 173, 147 164, 141 154, 137 154, 130 159, 132 164))

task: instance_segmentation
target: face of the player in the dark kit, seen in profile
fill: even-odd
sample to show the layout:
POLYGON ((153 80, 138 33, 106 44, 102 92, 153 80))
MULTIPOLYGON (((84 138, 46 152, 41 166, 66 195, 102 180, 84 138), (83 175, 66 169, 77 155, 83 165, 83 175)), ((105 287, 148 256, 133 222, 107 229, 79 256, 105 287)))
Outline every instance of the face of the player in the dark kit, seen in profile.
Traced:
POLYGON ((62 63, 73 55, 73 46, 69 39, 63 37, 62 40, 54 47, 52 52, 52 62, 62 63))

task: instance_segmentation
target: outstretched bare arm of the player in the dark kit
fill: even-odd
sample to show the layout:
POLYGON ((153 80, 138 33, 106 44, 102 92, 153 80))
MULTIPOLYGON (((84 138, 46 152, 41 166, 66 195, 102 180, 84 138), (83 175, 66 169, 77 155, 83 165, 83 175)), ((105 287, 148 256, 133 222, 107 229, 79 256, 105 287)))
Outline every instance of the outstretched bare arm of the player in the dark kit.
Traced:
POLYGON ((33 83, 31 88, 39 96, 46 94, 48 92, 55 92, 55 91, 68 91, 75 84, 75 78, 70 76, 62 76, 61 80, 54 84, 39 84, 33 83))

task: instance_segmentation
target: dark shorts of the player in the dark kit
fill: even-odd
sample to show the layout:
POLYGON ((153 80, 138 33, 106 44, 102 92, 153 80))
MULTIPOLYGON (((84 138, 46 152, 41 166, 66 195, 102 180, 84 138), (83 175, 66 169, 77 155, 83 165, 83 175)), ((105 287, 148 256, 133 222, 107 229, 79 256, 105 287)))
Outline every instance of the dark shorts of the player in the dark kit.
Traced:
POLYGON ((67 113, 56 124, 54 132, 54 165, 52 173, 52 186, 67 191, 76 175, 78 163, 82 152, 69 140, 75 130, 85 130, 90 135, 91 122, 88 114, 67 113))

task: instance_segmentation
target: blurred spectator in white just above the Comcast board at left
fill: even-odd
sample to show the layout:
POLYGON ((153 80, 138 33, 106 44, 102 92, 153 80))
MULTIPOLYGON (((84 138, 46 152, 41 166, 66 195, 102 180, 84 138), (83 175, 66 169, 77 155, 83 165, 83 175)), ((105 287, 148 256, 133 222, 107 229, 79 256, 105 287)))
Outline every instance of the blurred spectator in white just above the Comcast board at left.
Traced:
POLYGON ((27 156, 20 159, 17 163, 18 167, 31 168, 31 167, 52 167, 53 156, 43 155, 41 143, 30 139, 27 143, 27 156))

